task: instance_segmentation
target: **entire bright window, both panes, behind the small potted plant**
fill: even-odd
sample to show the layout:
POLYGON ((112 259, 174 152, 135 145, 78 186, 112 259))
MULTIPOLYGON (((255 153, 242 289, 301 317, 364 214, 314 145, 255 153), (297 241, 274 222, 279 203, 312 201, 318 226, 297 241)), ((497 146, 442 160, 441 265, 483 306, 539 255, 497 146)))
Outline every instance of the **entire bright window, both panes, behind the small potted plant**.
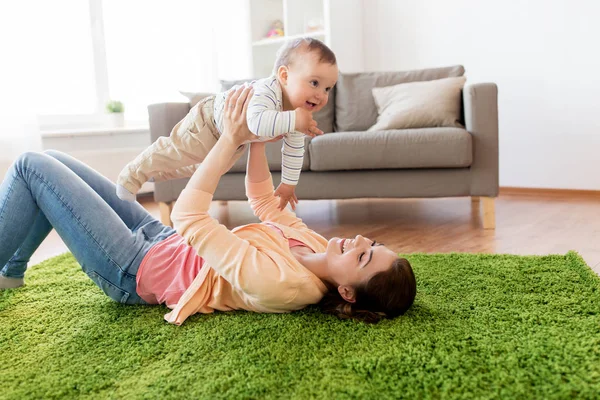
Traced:
POLYGON ((33 44, 27 51, 39 61, 27 80, 40 127, 103 125, 109 99, 123 102, 128 122, 145 124, 148 104, 184 101, 179 90, 218 90, 214 31, 226 25, 220 22, 226 10, 215 3, 13 2, 11 12, 21 16, 15 30, 31 35, 23 43, 33 44))

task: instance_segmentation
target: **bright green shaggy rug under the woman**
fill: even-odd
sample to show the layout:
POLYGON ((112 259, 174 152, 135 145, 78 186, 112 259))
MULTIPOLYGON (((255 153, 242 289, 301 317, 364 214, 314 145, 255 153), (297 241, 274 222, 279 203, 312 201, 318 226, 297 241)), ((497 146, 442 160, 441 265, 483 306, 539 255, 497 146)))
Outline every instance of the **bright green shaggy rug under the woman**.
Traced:
POLYGON ((71 255, 0 292, 0 398, 598 398, 600 278, 564 256, 412 254, 403 317, 195 315, 105 297, 71 255))

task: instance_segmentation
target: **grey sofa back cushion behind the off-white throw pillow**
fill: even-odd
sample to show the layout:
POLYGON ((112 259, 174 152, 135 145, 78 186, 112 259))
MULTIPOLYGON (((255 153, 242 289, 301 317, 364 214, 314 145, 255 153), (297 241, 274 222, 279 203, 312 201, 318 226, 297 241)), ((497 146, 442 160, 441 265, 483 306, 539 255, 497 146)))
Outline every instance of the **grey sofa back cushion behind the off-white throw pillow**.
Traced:
POLYGON ((377 122, 374 87, 463 76, 462 65, 403 72, 363 72, 339 75, 335 94, 337 132, 366 131, 377 122))

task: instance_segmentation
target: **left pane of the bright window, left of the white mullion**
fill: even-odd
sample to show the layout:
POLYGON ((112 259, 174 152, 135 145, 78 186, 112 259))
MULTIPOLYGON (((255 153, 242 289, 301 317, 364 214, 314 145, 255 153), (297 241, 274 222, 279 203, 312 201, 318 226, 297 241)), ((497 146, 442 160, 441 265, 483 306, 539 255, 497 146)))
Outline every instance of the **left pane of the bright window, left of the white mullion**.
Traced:
POLYGON ((33 91, 30 94, 35 97, 36 112, 94 113, 96 89, 88 2, 29 0, 12 2, 10 11, 12 18, 6 22, 13 25, 10 30, 21 47, 19 51, 35 55, 23 61, 32 59, 36 65, 34 76, 27 77, 27 83, 34 83, 27 89, 33 91))

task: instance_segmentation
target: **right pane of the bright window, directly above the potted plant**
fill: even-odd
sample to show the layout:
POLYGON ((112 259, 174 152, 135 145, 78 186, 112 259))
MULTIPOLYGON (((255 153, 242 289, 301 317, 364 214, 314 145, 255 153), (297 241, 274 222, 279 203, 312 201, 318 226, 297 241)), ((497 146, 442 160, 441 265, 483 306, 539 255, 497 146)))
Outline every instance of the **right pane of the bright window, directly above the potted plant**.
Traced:
POLYGON ((128 119, 145 120, 148 104, 184 100, 178 90, 218 89, 215 3, 103 1, 109 92, 128 119))

